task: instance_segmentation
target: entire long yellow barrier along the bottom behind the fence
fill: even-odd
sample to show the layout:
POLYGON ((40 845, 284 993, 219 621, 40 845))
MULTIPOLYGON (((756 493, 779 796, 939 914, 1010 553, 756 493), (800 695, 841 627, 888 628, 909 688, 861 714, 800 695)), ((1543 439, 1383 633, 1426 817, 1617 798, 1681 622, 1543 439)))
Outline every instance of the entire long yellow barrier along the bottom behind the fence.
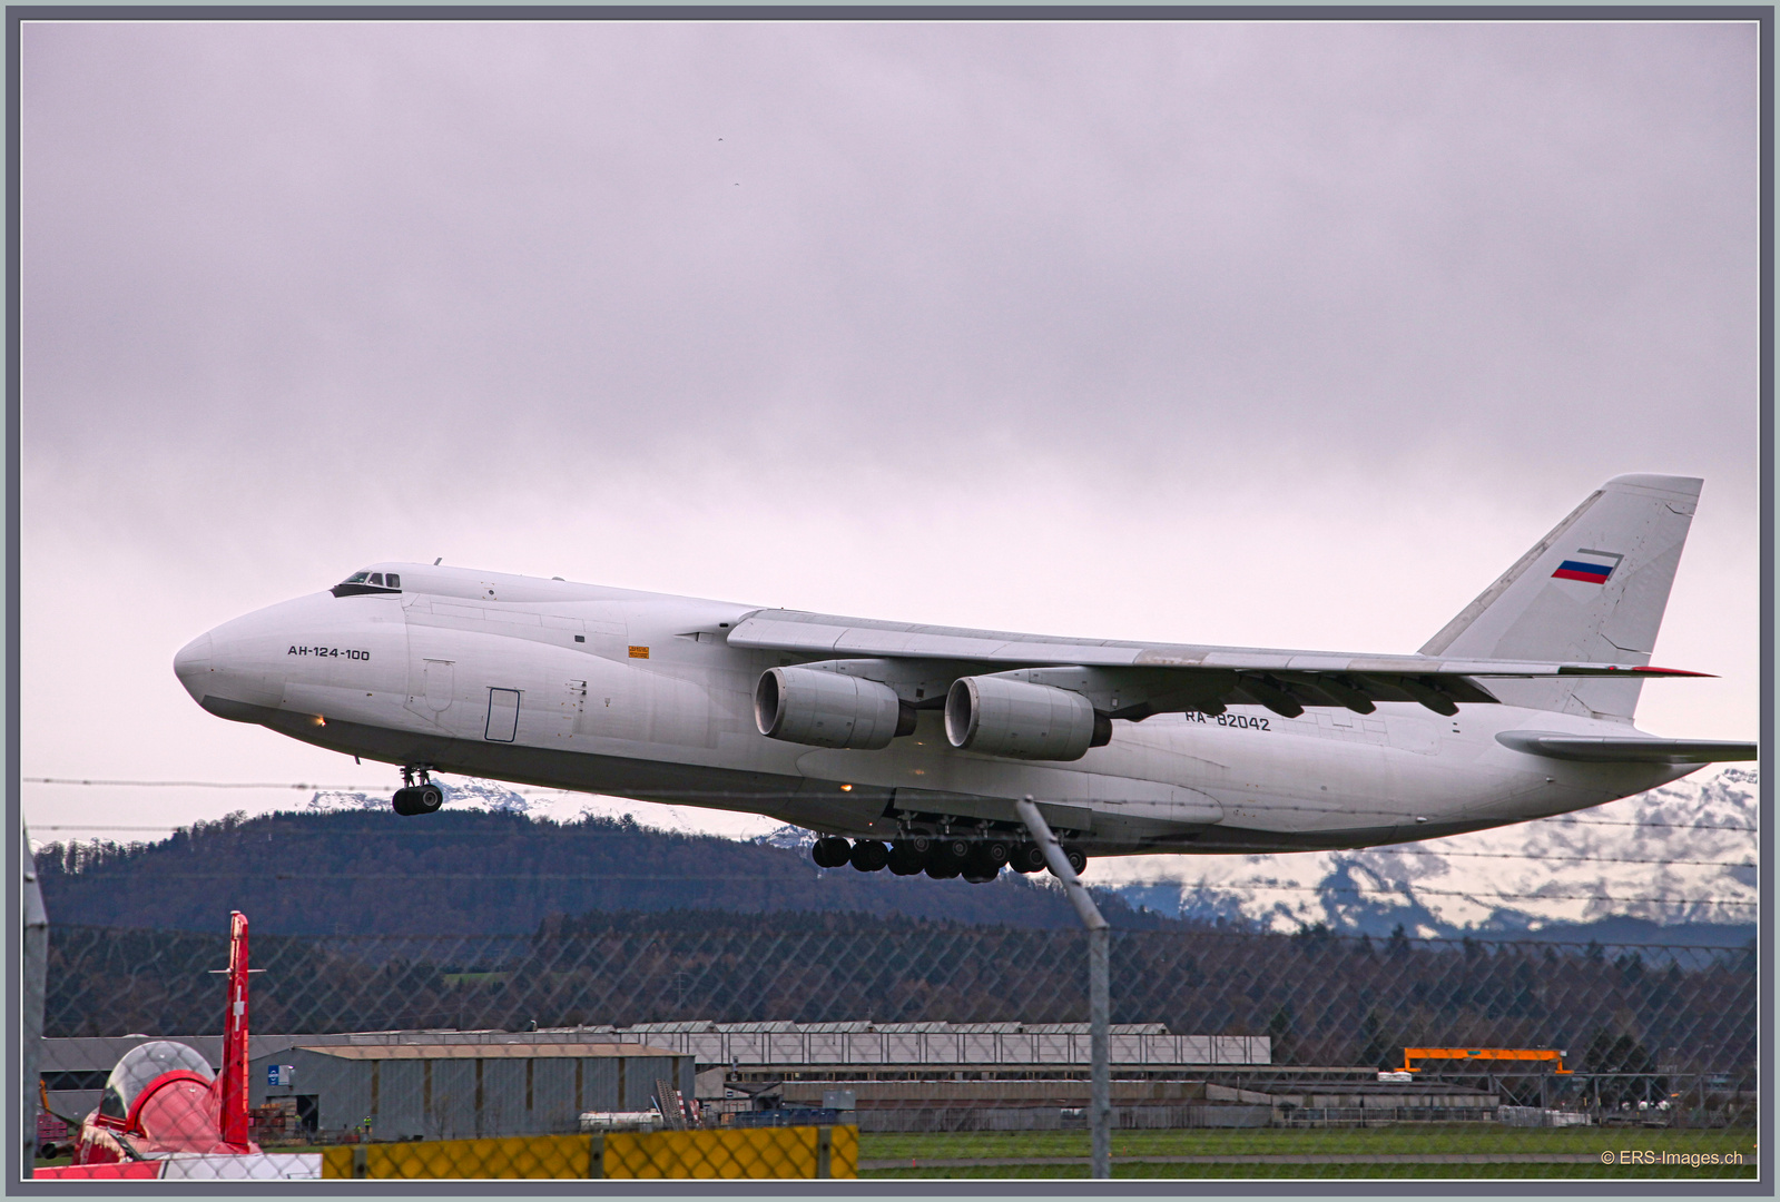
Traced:
POLYGON ((858 1127, 511 1136, 322 1149, 322 1177, 858 1177, 858 1127))

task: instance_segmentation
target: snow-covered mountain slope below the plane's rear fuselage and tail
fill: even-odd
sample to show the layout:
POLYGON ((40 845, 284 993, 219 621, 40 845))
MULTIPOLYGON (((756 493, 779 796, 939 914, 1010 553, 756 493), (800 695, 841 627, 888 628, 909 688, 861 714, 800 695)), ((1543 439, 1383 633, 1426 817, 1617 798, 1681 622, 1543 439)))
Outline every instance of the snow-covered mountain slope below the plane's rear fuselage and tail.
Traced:
POLYGON ((1363 851, 1102 860, 1132 905, 1267 930, 1385 935, 1620 926, 1753 930, 1753 769, 1723 767, 1593 810, 1363 851))

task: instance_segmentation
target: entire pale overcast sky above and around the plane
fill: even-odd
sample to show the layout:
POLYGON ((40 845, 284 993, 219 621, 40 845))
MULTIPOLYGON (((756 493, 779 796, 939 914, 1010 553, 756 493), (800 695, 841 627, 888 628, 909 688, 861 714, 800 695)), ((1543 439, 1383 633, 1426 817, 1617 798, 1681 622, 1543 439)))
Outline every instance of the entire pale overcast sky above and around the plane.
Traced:
POLYGON ((1753 23, 27 23, 23 771, 393 787, 171 670, 374 559, 1412 652, 1623 472, 1753 739, 1757 135, 1753 23))

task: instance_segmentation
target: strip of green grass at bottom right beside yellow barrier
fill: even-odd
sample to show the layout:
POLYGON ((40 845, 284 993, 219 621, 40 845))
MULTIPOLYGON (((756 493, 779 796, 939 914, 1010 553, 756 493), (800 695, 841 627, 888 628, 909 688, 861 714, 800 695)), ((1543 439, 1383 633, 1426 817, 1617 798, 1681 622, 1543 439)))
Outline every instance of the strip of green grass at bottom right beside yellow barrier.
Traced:
MULTIPOLYGON (((860 1175, 1086 1177, 1088 1154, 1089 1136, 1086 1131, 862 1134, 860 1175)), ((1493 1124, 1403 1124, 1310 1131, 1273 1127, 1114 1131, 1112 1159, 1114 1177, 1595 1177, 1638 1181, 1757 1175, 1755 1131, 1750 1127, 1541 1129, 1493 1124), (1737 1152, 1744 1163, 1622 1165, 1618 1163, 1622 1150, 1666 1152, 1670 1156, 1737 1152), (1613 1152, 1614 1163, 1602 1165, 1602 1152, 1613 1152), (1225 1163, 1207 1163, 1207 1157, 1218 1157, 1225 1163), (1493 1163, 1470 1159, 1465 1163, 1442 1157, 1504 1159, 1493 1163)))

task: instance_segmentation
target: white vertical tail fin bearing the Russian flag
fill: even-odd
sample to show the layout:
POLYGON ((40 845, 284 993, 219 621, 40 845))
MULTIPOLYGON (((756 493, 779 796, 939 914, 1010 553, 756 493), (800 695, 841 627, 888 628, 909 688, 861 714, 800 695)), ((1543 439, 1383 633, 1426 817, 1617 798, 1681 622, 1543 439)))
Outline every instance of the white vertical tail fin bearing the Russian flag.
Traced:
MULTIPOLYGON (((1422 655, 1648 664, 1702 481, 1618 475, 1431 638, 1422 655)), ((1630 723, 1639 680, 1492 680, 1506 705, 1630 723)))

